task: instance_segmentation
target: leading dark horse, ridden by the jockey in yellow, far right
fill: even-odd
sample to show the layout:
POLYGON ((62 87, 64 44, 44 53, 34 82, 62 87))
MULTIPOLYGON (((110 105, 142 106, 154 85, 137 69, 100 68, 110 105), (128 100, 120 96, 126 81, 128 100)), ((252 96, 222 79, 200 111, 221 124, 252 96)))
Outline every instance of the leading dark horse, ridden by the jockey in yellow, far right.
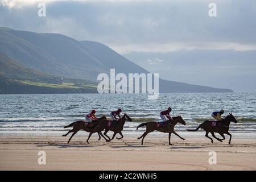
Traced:
POLYGON ((237 123, 236 118, 234 118, 234 116, 229 113, 229 115, 225 119, 222 119, 220 127, 212 126, 212 122, 216 122, 216 121, 205 121, 205 122, 201 123, 201 125, 199 125, 199 127, 197 127, 197 129, 187 130, 187 131, 197 131, 201 128, 206 131, 205 137, 209 138, 212 141, 212 143, 213 143, 213 139, 208 136, 209 133, 211 133, 212 137, 214 137, 214 138, 216 138, 214 133, 220 134, 221 137, 223 137, 223 138, 222 139, 216 138, 220 142, 222 142, 222 140, 225 140, 224 134, 227 134, 230 136, 230 138, 229 138, 229 144, 230 144, 232 135, 229 133, 229 125, 230 125, 230 122, 232 122, 232 121, 234 123, 237 123))

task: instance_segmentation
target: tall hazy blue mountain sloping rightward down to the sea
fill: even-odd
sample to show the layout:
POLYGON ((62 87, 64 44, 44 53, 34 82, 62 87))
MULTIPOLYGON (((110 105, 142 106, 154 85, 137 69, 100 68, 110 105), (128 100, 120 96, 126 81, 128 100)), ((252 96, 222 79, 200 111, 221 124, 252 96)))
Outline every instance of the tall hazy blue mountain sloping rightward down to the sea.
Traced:
MULTIPOLYGON (((0 54, 22 67, 53 77, 96 82, 99 73, 148 73, 104 44, 77 41, 61 34, 38 34, 0 27, 0 54)), ((23 75, 23 74, 21 74, 23 75)), ((10 76, 10 75, 9 75, 10 76)), ((159 80, 160 92, 233 92, 207 86, 159 80)))

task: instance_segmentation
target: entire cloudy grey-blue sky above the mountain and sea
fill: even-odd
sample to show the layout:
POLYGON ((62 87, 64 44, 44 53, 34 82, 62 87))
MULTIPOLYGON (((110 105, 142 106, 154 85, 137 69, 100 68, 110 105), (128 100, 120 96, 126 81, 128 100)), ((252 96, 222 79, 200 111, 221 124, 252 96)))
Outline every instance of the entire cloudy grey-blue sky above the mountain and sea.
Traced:
POLYGON ((0 0, 2 27, 100 42, 166 80, 236 92, 256 92, 255 22, 254 0, 0 0))

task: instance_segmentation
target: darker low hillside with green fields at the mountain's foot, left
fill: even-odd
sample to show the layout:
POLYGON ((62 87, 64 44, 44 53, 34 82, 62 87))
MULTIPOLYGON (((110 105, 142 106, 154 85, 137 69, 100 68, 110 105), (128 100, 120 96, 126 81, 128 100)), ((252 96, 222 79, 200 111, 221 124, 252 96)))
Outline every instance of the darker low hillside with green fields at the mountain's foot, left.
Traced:
POLYGON ((97 85, 41 73, 0 55, 0 93, 97 93, 97 85))

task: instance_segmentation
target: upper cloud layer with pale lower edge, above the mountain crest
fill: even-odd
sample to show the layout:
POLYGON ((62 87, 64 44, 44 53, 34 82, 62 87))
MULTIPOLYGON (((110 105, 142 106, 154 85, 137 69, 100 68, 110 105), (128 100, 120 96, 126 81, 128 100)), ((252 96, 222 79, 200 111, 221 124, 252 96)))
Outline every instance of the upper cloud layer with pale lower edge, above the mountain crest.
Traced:
POLYGON ((255 50, 256 2, 211 1, 0 0, 0 26, 56 32, 107 44, 120 53, 193 49, 255 50), (37 3, 45 2, 44 19, 37 3), (54 23, 52 23, 54 22, 54 23), (69 25, 70 26, 67 26, 69 25), (51 26, 50 26, 51 25, 51 26))

